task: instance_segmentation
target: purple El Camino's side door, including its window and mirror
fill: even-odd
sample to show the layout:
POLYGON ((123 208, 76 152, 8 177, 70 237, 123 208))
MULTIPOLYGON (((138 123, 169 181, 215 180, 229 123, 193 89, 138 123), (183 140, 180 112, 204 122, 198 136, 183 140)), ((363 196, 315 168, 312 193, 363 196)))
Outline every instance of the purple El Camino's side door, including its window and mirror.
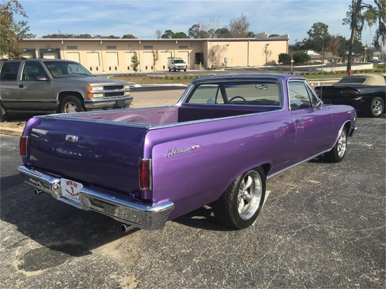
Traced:
POLYGON ((296 129, 297 161, 328 150, 332 142, 332 116, 328 108, 316 109, 318 100, 305 81, 289 81, 290 113, 296 129))

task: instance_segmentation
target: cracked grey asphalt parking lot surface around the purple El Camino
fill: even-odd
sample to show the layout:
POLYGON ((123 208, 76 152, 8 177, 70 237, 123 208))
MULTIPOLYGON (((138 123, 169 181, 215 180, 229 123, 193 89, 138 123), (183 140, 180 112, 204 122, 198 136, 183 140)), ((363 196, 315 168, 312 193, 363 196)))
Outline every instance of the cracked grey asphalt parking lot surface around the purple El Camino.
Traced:
POLYGON ((257 222, 239 231, 205 207, 124 234, 34 195, 16 170, 19 138, 1 136, 0 287, 384 288, 385 124, 359 118, 341 163, 320 157, 269 179, 257 222))

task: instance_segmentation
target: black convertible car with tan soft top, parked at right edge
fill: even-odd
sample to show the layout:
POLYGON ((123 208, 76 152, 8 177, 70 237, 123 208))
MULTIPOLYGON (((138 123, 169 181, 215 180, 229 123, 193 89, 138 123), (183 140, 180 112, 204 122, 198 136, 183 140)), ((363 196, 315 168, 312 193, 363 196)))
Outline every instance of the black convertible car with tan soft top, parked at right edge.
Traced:
POLYGON ((374 118, 385 110, 386 76, 381 73, 355 74, 331 86, 317 86, 315 92, 325 104, 348 104, 374 118))

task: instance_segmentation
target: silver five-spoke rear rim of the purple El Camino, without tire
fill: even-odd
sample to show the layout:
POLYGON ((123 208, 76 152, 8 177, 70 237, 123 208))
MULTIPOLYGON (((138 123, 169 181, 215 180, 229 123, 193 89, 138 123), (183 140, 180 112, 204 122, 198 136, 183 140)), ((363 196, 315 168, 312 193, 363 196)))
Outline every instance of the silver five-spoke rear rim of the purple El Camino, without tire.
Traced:
POLYGON ((254 216, 259 208, 261 194, 261 176, 257 171, 251 170, 241 181, 237 195, 237 210, 239 211, 240 218, 249 220, 254 216))

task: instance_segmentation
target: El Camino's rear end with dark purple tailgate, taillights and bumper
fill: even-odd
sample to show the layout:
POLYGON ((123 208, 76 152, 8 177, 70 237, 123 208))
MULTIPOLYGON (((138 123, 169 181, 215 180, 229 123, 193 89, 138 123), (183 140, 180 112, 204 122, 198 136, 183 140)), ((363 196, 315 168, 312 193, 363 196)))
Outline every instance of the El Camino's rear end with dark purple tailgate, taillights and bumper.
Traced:
POLYGON ((161 229, 174 208, 153 203, 151 161, 144 160, 146 126, 60 117, 30 119, 20 138, 25 183, 36 193, 122 222, 161 229))

